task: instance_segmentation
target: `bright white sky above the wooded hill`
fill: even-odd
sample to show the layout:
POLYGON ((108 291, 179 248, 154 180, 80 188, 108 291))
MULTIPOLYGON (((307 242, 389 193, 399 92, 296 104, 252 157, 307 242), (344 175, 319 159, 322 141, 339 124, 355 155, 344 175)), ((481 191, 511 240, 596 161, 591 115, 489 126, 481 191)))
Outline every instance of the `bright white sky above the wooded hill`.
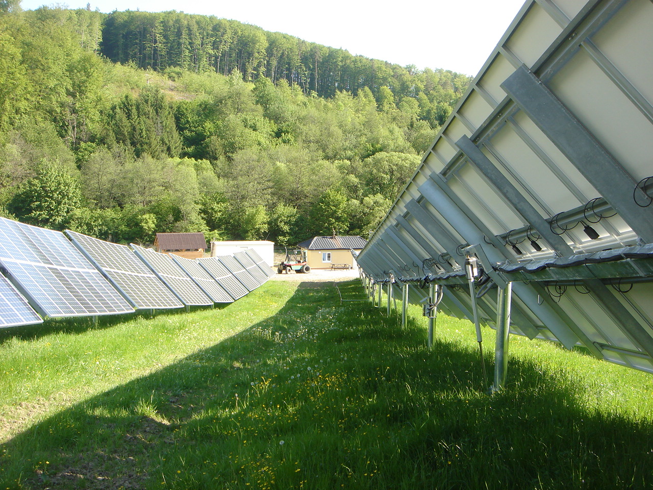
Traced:
MULTIPOLYGON (((270 0, 64 0, 68 8, 178 10, 214 15, 398 65, 443 68, 475 76, 524 0, 431 0, 345 3, 270 0)), ((52 5, 23 0, 24 10, 52 5)))

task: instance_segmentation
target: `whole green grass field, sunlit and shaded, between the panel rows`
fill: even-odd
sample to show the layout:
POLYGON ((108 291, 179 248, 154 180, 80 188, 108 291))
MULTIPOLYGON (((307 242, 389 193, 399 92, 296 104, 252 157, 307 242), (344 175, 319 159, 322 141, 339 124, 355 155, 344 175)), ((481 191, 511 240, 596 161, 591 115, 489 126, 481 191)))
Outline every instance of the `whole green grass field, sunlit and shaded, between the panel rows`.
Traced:
POLYGON ((411 315, 268 282, 223 308, 3 331, 0 490, 653 486, 649 374, 511 337, 489 396, 471 324, 439 316, 428 350, 411 315))

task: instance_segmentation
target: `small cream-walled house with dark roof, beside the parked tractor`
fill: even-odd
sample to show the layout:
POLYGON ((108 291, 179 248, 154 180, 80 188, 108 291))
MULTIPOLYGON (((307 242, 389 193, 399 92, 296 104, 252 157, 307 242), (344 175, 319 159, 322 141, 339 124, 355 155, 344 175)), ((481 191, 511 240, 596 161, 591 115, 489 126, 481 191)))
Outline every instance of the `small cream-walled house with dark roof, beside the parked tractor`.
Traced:
POLYGON ((313 237, 298 247, 306 251, 306 262, 311 269, 357 269, 351 250, 360 252, 367 240, 355 237, 313 237))

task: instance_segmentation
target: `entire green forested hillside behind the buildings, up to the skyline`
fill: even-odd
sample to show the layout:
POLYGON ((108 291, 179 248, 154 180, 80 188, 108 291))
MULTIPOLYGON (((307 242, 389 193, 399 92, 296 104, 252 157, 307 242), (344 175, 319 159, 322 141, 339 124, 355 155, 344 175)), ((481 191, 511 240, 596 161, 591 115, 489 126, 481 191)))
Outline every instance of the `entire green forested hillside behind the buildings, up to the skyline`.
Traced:
POLYGON ((0 0, 0 211, 117 242, 366 236, 468 83, 232 20, 0 0))

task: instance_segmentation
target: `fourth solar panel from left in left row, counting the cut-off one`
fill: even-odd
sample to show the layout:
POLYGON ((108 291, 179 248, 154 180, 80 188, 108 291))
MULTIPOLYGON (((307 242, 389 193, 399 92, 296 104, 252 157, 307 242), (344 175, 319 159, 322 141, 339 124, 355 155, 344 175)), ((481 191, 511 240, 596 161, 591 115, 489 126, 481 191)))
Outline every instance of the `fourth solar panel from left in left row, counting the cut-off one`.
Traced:
POLYGON ((131 244, 131 248, 184 304, 189 306, 213 304, 212 299, 197 287, 197 284, 170 258, 170 255, 154 252, 135 244, 131 244))

